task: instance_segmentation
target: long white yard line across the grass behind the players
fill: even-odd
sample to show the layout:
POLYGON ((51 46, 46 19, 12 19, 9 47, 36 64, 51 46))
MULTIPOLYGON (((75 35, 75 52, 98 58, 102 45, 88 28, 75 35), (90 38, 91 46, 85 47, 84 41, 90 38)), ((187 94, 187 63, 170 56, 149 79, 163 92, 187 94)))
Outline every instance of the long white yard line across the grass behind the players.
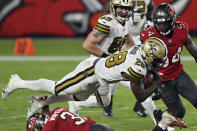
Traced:
MULTIPOLYGON (((82 61, 88 56, 0 56, 0 61, 82 61)), ((182 61, 194 61, 191 56, 181 56, 182 61)))

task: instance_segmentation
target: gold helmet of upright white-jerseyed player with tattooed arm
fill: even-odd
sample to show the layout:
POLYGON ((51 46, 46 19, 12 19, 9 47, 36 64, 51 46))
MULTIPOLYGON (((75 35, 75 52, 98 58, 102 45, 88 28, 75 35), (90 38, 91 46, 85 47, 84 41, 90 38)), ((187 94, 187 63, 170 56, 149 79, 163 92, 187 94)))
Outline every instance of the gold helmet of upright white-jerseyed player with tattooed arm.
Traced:
POLYGON ((111 0, 110 2, 110 13, 120 22, 129 20, 132 15, 133 4, 132 0, 111 0), (121 12, 117 12, 117 7, 126 7, 127 14, 123 15, 121 12))

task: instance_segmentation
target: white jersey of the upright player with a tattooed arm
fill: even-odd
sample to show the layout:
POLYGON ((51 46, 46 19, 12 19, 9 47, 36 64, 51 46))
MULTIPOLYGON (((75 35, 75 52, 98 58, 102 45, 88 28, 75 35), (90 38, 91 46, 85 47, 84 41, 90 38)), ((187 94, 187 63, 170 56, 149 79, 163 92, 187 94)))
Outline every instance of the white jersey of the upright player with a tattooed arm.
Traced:
POLYGON ((120 51, 128 39, 131 26, 131 20, 126 21, 122 25, 111 14, 100 17, 94 29, 102 31, 108 34, 108 36, 97 46, 107 54, 120 51))

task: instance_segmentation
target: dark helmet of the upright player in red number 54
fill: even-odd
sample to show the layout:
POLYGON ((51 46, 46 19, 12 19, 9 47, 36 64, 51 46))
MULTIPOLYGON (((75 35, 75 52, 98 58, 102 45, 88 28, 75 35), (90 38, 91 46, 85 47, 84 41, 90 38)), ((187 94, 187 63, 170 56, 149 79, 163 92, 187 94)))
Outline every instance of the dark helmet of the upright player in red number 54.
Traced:
POLYGON ((173 32, 176 22, 174 8, 170 4, 160 4, 153 15, 153 22, 157 31, 162 35, 169 35, 173 32))

